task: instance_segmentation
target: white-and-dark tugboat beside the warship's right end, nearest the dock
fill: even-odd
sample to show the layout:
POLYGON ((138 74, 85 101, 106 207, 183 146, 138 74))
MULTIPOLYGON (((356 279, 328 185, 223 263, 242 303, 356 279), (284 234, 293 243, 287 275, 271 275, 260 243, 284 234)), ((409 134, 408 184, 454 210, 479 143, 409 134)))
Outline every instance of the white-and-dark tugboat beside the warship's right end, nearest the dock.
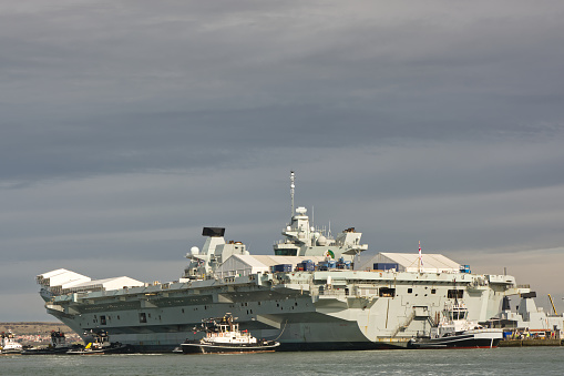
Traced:
POLYGON ((468 308, 458 301, 447 305, 430 336, 412 338, 408 348, 493 348, 503 338, 502 329, 484 328, 468 319, 468 308))

